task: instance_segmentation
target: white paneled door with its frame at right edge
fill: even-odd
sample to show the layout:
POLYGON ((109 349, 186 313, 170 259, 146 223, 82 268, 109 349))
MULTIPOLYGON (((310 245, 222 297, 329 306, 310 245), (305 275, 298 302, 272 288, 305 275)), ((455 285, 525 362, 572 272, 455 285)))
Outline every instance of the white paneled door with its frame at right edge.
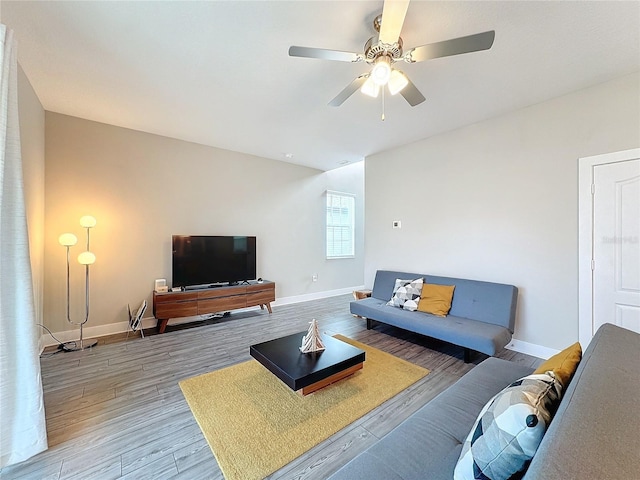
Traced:
POLYGON ((590 157, 591 312, 581 308, 583 347, 603 323, 640 332, 640 151, 620 153, 590 157))

